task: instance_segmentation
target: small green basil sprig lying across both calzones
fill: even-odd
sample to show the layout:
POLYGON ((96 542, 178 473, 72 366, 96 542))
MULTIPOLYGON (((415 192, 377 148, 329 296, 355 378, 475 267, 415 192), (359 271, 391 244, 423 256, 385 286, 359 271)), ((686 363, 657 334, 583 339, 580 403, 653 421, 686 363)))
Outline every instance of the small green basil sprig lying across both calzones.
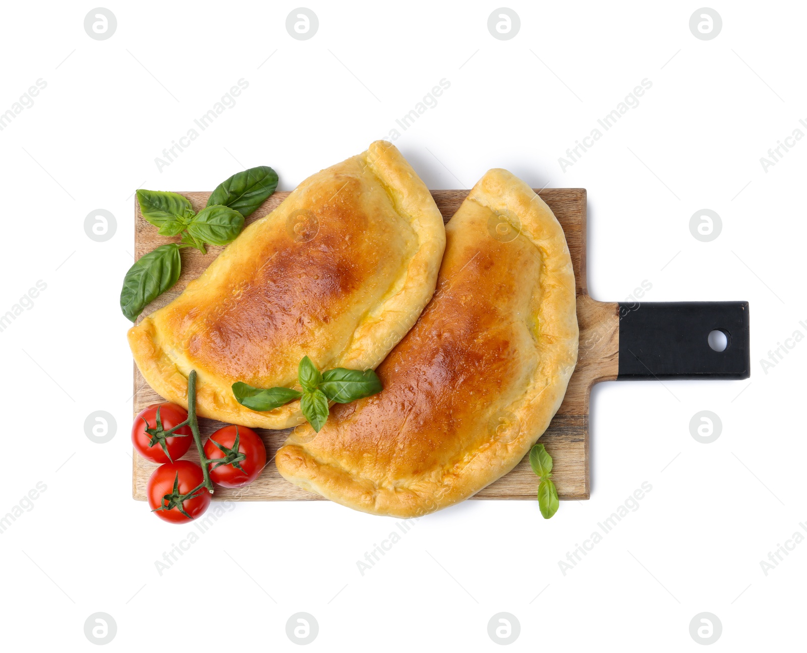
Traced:
POLYGON ((347 404, 380 393, 381 381, 371 370, 333 368, 320 373, 308 356, 297 366, 297 381, 302 392, 291 388, 254 388, 237 381, 232 394, 241 406, 250 410, 274 410, 289 401, 300 400, 300 410, 317 433, 328 419, 328 401, 347 404))

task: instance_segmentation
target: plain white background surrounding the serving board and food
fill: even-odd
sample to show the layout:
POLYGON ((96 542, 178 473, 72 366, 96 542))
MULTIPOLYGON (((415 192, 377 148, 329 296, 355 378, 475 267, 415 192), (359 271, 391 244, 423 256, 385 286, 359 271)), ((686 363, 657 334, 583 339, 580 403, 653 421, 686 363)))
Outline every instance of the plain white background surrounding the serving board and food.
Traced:
POLYGON ((47 485, 0 534, 4 650, 94 650, 83 629, 99 611, 117 623, 109 651, 297 650, 286 620, 300 611, 319 623, 312 651, 494 651, 499 612, 521 623, 514 651, 700 650, 700 612, 721 620, 716 651, 803 646, 807 543, 767 576, 760 560, 807 523, 807 343, 767 373, 759 361, 807 335, 807 142, 767 172, 759 159, 807 119, 804 3, 715 4, 713 40, 692 35, 686 2, 512 2, 512 40, 488 32, 491 2, 312 2, 320 27, 304 41, 286 32, 295 4, 105 6, 108 40, 84 31, 91 4, 2 7, 0 111, 47 82, 0 131, 0 314, 47 284, 0 332, 0 515, 47 485), (236 106, 158 171, 240 78, 236 106), (441 78, 437 106, 395 141, 429 187, 470 188, 500 166, 586 188, 592 296, 622 300, 646 280, 647 301, 751 302, 751 379, 597 387, 592 498, 549 521, 536 501, 466 501, 415 522, 362 576, 395 520, 240 502, 160 576, 155 561, 192 526, 131 497, 118 296, 134 189, 209 190, 260 164, 293 189, 387 136, 441 78), (558 157, 644 78, 639 106, 562 172, 558 157), (117 223, 102 243, 84 231, 98 208, 117 223), (688 227, 704 208, 723 223, 710 243, 688 227), (115 415, 109 443, 85 436, 94 410, 115 415), (721 418, 714 443, 690 435, 700 410, 721 418), (639 509, 563 576, 558 561, 643 481, 639 509))

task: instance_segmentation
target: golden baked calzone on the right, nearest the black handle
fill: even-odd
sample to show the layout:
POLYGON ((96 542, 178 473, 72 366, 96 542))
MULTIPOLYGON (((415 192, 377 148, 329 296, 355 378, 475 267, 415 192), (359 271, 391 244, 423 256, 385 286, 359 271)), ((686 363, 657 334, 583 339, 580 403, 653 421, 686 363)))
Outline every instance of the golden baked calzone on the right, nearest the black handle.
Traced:
POLYGON ((376 373, 278 451, 287 480, 356 510, 416 517, 509 472, 549 426, 577 362, 562 227, 523 181, 489 171, 446 227, 437 291, 376 373))

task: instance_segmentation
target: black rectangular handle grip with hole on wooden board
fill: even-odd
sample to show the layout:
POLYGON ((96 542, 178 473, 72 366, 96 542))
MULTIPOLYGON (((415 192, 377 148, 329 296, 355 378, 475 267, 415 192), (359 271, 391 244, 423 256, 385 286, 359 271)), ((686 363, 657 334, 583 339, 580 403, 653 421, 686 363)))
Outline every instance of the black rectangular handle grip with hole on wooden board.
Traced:
POLYGON ((747 379, 748 302, 642 302, 619 305, 617 379, 747 379), (709 346, 722 331, 723 351, 709 346))

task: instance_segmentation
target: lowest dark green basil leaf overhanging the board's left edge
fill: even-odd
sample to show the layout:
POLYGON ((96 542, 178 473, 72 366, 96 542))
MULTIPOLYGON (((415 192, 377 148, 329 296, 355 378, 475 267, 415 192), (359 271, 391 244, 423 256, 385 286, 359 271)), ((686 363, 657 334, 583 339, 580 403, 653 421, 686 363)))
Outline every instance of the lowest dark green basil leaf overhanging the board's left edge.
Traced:
POLYGON ((153 252, 140 256, 123 277, 120 310, 135 322, 148 302, 177 283, 181 270, 182 260, 177 243, 160 245, 153 252))

